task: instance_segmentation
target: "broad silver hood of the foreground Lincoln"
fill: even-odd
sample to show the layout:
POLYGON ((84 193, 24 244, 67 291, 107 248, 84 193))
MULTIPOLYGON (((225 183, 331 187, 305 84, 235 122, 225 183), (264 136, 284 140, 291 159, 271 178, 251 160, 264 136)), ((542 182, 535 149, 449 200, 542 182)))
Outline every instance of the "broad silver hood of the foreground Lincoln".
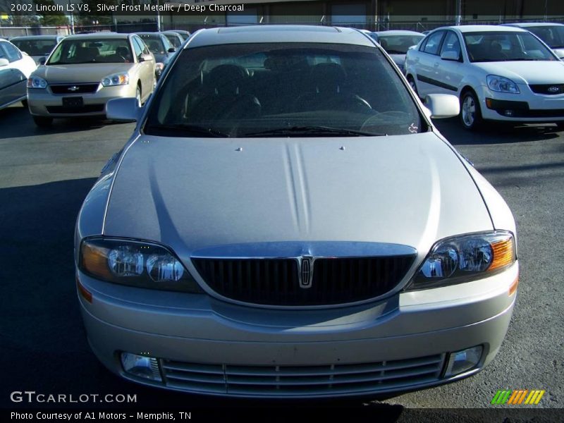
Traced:
POLYGON ((433 243, 493 228, 459 157, 434 133, 389 137, 139 137, 111 190, 104 235, 180 257, 217 245, 433 243))

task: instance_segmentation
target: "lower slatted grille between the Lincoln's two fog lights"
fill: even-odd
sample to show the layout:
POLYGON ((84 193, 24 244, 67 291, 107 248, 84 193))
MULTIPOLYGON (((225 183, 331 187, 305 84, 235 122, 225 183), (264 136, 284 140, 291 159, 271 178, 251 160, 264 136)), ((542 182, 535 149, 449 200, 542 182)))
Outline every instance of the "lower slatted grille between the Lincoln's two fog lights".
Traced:
POLYGON ((444 354, 324 366, 237 366, 161 360, 169 388, 200 393, 290 397, 373 393, 437 381, 444 354))

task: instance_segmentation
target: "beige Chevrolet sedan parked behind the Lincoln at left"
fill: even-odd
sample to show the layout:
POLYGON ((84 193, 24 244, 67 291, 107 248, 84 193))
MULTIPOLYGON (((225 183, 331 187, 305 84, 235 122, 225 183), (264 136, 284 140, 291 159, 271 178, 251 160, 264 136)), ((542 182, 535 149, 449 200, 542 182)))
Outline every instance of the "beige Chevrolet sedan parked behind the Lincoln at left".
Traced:
POLYGON ((71 35, 30 76, 27 101, 45 126, 53 118, 105 116, 106 102, 117 97, 145 102, 154 85, 154 56, 136 35, 71 35))

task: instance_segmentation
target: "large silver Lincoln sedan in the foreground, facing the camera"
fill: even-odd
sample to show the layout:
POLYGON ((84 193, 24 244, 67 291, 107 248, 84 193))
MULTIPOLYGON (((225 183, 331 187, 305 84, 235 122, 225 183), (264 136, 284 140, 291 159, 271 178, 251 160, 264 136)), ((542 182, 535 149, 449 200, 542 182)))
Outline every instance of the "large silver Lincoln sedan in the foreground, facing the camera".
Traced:
POLYGON ((219 396, 372 396, 482 370, 508 329, 515 221, 353 29, 196 32, 82 205, 78 300, 125 379, 219 396))

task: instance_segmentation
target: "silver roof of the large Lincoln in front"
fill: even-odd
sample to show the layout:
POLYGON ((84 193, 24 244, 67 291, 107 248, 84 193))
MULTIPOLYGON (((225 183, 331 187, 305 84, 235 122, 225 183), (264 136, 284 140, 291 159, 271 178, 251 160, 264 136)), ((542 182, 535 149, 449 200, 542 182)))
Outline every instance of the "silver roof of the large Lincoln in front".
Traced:
POLYGON ((374 41, 354 28, 314 25, 219 27, 192 34, 184 48, 256 42, 319 42, 374 47, 374 41))

